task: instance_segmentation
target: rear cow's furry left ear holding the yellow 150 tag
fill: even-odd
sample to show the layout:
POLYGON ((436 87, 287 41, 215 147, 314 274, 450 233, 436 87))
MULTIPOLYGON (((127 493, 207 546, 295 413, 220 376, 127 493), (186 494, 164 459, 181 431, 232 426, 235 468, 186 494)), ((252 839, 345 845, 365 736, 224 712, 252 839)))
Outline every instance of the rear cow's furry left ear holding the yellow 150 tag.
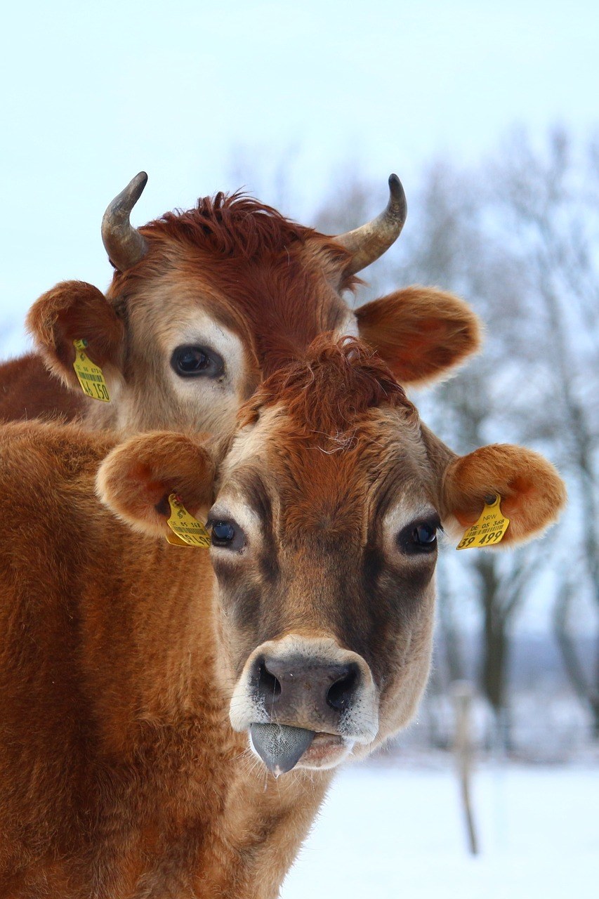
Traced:
POLYGON ((33 304, 27 328, 46 366, 67 387, 80 390, 73 362, 76 340, 103 369, 104 377, 121 378, 124 327, 112 305, 93 284, 61 281, 33 304))

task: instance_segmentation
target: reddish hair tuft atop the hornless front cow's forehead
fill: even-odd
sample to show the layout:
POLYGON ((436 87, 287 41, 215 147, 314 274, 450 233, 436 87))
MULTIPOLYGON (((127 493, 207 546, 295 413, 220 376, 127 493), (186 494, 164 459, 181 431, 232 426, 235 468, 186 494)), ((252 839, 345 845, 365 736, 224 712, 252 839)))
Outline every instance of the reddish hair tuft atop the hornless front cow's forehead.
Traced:
POLYGON ((242 425, 257 420, 260 409, 281 404, 298 433, 346 432, 369 409, 403 407, 410 417, 416 406, 394 380, 385 363, 364 343, 321 334, 303 360, 274 372, 243 406, 242 425))

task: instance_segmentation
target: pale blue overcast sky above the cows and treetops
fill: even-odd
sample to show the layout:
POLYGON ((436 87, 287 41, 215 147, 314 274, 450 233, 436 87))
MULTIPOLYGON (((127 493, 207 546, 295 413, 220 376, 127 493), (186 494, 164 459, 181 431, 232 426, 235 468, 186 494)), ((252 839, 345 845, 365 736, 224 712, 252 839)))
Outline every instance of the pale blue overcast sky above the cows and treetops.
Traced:
POLYGON ((295 199, 282 211, 309 224, 335 171, 380 180, 380 206, 396 171, 409 202, 431 156, 475 161, 517 122, 584 136, 599 121, 596 0, 11 5, 4 354, 22 349, 22 317, 56 281, 105 287, 103 209, 140 169, 136 223, 240 183, 272 201, 268 176, 285 171, 295 199))

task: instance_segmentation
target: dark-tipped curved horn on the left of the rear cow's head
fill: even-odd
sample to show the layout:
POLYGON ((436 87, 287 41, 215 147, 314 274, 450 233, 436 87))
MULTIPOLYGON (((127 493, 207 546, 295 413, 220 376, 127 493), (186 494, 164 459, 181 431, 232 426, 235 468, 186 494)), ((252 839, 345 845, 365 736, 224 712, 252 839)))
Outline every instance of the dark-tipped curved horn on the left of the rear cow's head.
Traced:
POLYGON ((108 258, 119 271, 127 271, 148 253, 146 241, 139 231, 131 227, 129 220, 131 209, 139 200, 147 182, 148 175, 145 172, 136 174, 104 212, 103 245, 108 258))

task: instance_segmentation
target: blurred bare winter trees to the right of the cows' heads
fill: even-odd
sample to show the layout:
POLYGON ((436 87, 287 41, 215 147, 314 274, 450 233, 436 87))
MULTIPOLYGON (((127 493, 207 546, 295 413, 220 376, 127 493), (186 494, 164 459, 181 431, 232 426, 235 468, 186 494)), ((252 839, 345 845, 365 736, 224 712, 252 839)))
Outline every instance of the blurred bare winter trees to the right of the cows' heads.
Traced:
POLYGON ((501 162, 478 176, 429 169, 422 220, 404 251, 415 280, 455 289, 487 323, 480 360, 436 395, 435 429, 456 449, 532 443, 568 480, 570 512, 550 542, 509 563, 483 553, 469 560, 481 587, 482 690, 503 717, 509 631, 545 577, 566 670, 599 734, 599 642, 589 672, 572 628, 581 597, 599 612, 597 200, 599 140, 577 156, 563 129, 540 149, 515 134, 501 162))

